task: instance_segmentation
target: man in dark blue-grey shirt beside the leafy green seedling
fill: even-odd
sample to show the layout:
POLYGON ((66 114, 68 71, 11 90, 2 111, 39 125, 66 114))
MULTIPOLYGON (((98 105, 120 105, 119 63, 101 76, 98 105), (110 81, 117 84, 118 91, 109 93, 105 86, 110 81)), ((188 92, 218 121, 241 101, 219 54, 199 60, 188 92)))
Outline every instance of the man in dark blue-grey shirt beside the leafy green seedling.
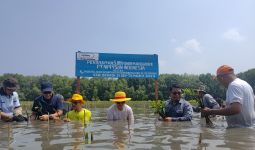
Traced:
POLYGON ((166 101, 164 121, 191 121, 192 106, 181 98, 182 89, 174 84, 170 88, 170 99, 166 101))

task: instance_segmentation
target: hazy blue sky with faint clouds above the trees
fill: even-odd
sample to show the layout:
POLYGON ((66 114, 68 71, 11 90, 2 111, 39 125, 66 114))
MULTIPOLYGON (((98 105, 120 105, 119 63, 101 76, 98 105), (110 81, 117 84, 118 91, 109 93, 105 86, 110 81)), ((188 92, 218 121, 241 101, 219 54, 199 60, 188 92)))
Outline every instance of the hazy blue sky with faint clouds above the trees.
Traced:
POLYGON ((158 54, 159 73, 255 68, 254 0, 1 0, 0 75, 75 77, 75 52, 158 54))

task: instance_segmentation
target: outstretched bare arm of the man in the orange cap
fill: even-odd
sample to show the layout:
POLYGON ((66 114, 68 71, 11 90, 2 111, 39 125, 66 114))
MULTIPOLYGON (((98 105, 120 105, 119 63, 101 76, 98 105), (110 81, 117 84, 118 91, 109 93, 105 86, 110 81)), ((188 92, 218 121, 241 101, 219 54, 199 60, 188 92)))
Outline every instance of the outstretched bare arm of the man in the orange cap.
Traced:
POLYGON ((232 103, 229 107, 222 109, 209 109, 204 108, 201 112, 205 115, 222 115, 222 116, 231 116, 239 114, 241 112, 241 104, 238 102, 232 103))

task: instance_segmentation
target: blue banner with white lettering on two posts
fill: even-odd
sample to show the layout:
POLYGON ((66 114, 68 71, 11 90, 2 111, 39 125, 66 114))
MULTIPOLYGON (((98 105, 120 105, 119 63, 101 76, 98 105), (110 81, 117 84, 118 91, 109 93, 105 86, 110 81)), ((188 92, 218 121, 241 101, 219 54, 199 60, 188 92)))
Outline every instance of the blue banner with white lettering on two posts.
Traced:
POLYGON ((158 55, 76 52, 75 75, 104 78, 158 78, 158 55))

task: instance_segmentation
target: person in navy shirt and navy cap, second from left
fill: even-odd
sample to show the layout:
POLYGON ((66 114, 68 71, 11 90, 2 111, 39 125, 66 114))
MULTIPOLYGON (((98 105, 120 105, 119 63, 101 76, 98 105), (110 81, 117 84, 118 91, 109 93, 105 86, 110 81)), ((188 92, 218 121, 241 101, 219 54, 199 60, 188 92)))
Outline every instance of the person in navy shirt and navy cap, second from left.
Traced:
POLYGON ((41 83, 42 95, 34 100, 32 117, 36 120, 59 120, 63 114, 63 99, 60 94, 54 94, 50 82, 41 83))

